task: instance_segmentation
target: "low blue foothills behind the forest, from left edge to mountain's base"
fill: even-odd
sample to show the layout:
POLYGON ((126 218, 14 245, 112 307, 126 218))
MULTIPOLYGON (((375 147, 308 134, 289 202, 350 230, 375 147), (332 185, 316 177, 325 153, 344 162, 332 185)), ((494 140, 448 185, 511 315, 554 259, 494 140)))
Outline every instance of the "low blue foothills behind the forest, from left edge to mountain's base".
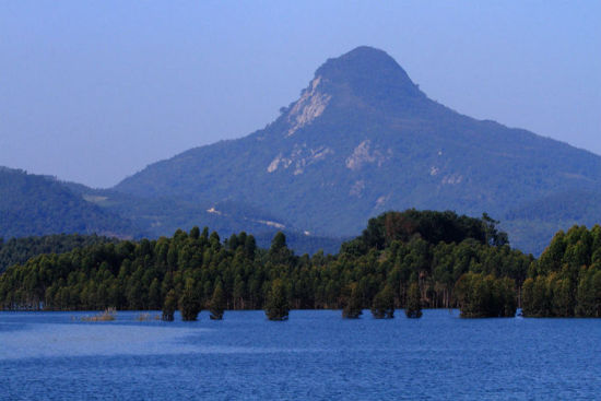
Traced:
POLYGON ((299 255, 319 249, 335 253, 343 241, 309 236, 287 224, 235 202, 210 205, 167 197, 141 199, 0 167, 0 272, 38 253, 60 253, 109 240, 104 236, 157 238, 195 225, 221 233, 222 239, 246 229, 264 248, 283 231, 299 255))

